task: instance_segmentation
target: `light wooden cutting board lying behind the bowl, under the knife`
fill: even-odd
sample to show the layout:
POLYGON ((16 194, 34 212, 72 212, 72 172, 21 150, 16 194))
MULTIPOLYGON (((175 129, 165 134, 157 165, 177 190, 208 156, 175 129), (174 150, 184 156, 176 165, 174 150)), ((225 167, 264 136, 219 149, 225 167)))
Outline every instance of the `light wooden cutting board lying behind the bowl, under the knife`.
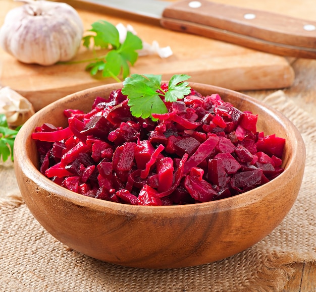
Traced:
MULTIPOLYGON (((234 1, 230 0, 218 0, 218 2, 234 4, 234 1)), ((292 7, 286 13, 284 8, 288 6, 284 6, 284 14, 290 15, 293 7, 302 5, 302 0, 290 0, 290 2, 293 2, 292 7)), ((192 82, 213 84, 234 90, 277 89, 289 87, 293 83, 294 71, 288 60, 282 56, 169 31, 161 28, 157 21, 115 13, 105 8, 88 5, 84 1, 68 1, 68 3, 78 11, 86 30, 91 27, 91 23, 100 19, 115 25, 120 22, 124 25, 131 24, 143 41, 151 43, 156 40, 160 46, 169 45, 172 48, 173 55, 167 59, 161 59, 157 55, 139 57, 135 66, 131 68, 131 73, 163 74, 163 79, 166 80, 173 74, 185 73, 192 76, 190 79, 192 82)), ((271 0, 264 3, 270 7, 270 11, 273 6, 278 5, 271 0)), ((283 3, 288 1, 284 0, 283 3)), ((7 12, 19 5, 21 4, 12 0, 1 0, 0 25, 7 12)), ((256 7, 258 4, 253 5, 253 1, 240 0, 238 5, 262 9, 256 7)), ((81 48, 75 60, 83 60, 91 56, 91 52, 81 48)), ((78 90, 115 82, 110 78, 92 78, 84 70, 87 63, 42 67, 22 64, 4 51, 0 51, 0 57, 1 85, 10 86, 28 98, 35 110, 78 90)))

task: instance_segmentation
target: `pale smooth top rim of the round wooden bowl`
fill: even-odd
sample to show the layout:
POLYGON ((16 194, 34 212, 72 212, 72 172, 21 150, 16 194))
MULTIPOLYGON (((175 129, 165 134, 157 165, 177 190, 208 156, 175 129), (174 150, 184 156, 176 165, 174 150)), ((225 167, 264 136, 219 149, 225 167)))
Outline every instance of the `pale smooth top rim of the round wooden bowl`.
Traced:
MULTIPOLYGON (((164 81, 163 81, 164 82, 164 81)), ((100 85, 96 87, 91 87, 85 90, 81 90, 78 92, 75 92, 73 94, 69 94, 59 100, 56 100, 49 105, 46 105, 39 111, 37 111, 31 118, 26 121, 24 126, 20 129, 17 137, 16 142, 14 144, 14 161, 15 168, 19 167, 17 164, 20 164, 21 161, 23 161, 23 169, 21 171, 25 174, 25 176, 32 180, 34 183, 36 183, 40 188, 45 190, 46 192, 50 194, 54 194, 55 196, 58 196, 60 198, 63 198, 67 200, 68 202, 71 202, 76 205, 81 205, 85 207, 89 207, 92 209, 97 209, 100 211, 105 210, 112 210, 116 212, 123 212, 123 213, 139 213, 142 214, 152 214, 153 212, 159 212, 161 214, 170 216, 177 216, 178 212, 181 212, 182 214, 186 214, 187 216, 191 215, 192 209, 198 208, 199 210, 204 209, 214 209, 215 212, 222 212, 224 210, 233 209, 233 208, 240 208, 241 206, 247 206, 249 204, 252 204, 254 201, 258 199, 262 199, 265 197, 264 195, 264 189, 267 186, 270 185, 278 185, 285 186, 286 181, 283 180, 283 177, 286 176, 286 174, 290 171, 293 172, 293 167, 296 165, 300 165, 301 167, 304 167, 305 163, 305 155, 306 155, 306 149, 305 144, 302 139, 301 134, 299 133, 298 129, 294 126, 294 124, 281 112, 276 110, 270 105, 265 104, 262 101, 259 101, 251 96, 248 96, 246 94, 226 89, 223 87, 213 86, 209 84, 202 84, 197 82, 189 82, 190 86, 192 88, 197 86, 207 86, 208 89, 212 89, 213 91, 219 91, 219 92, 226 92, 231 95, 235 95, 237 97, 246 99, 250 103, 254 103, 255 106, 259 106, 261 109, 264 109, 266 112, 268 112, 271 116, 274 117, 275 120, 278 120, 279 123, 282 125, 283 128, 286 128, 291 131, 291 133, 295 134, 295 137, 297 138, 293 143, 295 144, 295 147, 293 148, 293 153, 291 155, 291 159, 287 161, 285 170, 275 179, 268 182, 265 185, 261 185, 259 187, 256 187, 250 191, 247 191, 242 194, 238 194, 233 197, 224 198, 216 201, 210 201, 210 202, 201 202, 201 203, 195 203, 195 204, 186 204, 186 205, 172 205, 172 206, 140 206, 140 205, 129 205, 129 204, 123 204, 123 203, 117 203, 117 202, 111 202, 106 200, 101 200, 97 198, 87 197, 75 192, 72 192, 62 186, 59 186, 58 184, 55 184, 54 182, 50 181, 48 178, 46 178, 40 171, 37 169, 37 167, 33 164, 30 157, 27 155, 27 149, 23 147, 23 145, 26 145, 27 139, 31 139, 31 133, 34 130, 34 127, 32 125, 38 120, 38 117, 40 117, 43 112, 47 112, 49 109, 55 107, 56 105, 60 104, 60 102, 65 103, 70 101, 72 98, 78 95, 84 95, 87 92, 97 91, 106 87, 122 87, 122 83, 115 83, 115 84, 106 84, 106 85, 100 85), (20 147, 20 148, 19 148, 20 147), (298 156, 298 151, 301 151, 302 155, 298 156), (27 174, 26 174, 27 173, 27 174), (260 197, 258 197, 260 195, 260 197), (234 201, 238 201, 238 204, 232 204, 234 201)), ((221 93, 219 93, 221 95, 221 93)), ((38 123, 38 122, 37 122, 38 123)), ((288 131, 287 130, 287 131, 288 131)), ((292 143, 292 141, 290 141, 292 143)), ((295 168, 295 167, 294 167, 295 168)))

